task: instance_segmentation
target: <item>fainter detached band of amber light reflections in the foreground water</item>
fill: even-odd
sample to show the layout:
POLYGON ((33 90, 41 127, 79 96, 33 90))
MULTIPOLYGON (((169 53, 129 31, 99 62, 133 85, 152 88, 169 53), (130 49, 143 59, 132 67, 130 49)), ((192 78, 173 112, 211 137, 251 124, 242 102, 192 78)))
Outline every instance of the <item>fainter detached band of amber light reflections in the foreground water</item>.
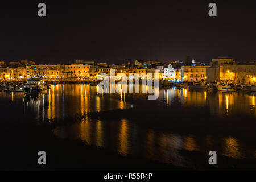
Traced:
MULTIPOLYGON (((89 145, 115 150, 123 156, 137 155, 175 166, 193 167, 194 165, 182 150, 200 151, 203 155, 208 155, 208 152, 213 150, 213 146, 221 155, 235 159, 244 158, 244 150, 236 138, 213 139, 212 136, 207 135, 203 137, 204 143, 191 134, 179 135, 142 128, 137 133, 133 133, 131 131, 134 127, 137 126, 124 119, 119 123, 118 121, 85 122, 80 125, 76 123, 67 127, 57 127, 53 133, 61 138, 80 138, 89 145)), ((250 151, 255 153, 252 149, 250 151)))

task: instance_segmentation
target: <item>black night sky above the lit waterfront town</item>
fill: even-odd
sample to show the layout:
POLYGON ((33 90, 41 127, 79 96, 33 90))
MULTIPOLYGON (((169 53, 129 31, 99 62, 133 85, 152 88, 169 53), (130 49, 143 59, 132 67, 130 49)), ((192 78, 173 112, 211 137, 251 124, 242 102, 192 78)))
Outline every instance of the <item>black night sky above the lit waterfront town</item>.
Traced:
POLYGON ((1 2, 0 60, 256 60, 255 0, 85 2, 1 2), (46 18, 38 17, 40 2, 46 18), (210 2, 217 18, 208 16, 210 2))

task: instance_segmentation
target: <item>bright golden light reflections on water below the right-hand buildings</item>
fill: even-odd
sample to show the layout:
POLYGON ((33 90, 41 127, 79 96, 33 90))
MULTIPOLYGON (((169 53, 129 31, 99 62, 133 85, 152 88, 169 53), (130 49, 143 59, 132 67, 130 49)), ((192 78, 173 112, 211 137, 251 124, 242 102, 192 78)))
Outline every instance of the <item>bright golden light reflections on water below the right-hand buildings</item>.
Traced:
POLYGON ((252 94, 242 92, 202 92, 188 89, 163 89, 160 100, 166 105, 179 101, 183 106, 209 107, 212 115, 224 117, 232 114, 255 114, 255 99, 252 94))

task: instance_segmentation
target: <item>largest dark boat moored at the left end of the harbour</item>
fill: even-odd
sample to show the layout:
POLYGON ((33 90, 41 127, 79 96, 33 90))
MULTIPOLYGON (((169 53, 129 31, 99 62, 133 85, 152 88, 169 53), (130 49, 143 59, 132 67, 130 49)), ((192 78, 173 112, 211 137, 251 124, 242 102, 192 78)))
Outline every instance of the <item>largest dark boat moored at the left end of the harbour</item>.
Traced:
POLYGON ((23 86, 27 93, 39 93, 43 90, 43 82, 41 78, 30 78, 23 86))

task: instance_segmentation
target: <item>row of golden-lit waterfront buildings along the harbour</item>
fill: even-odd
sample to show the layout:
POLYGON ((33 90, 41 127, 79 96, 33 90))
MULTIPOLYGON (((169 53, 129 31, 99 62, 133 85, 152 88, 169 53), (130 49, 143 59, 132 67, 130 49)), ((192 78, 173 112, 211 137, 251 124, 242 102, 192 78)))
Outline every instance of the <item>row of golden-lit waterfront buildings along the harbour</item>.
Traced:
POLYGON ((207 81, 233 82, 233 84, 255 85, 256 62, 238 63, 233 59, 213 59, 210 63, 196 63, 189 65, 179 61, 161 63, 158 61, 137 60, 134 63, 109 65, 94 61, 76 60, 74 64, 37 65, 33 61, 12 61, 5 65, 0 61, 0 80, 23 79, 29 77, 45 78, 97 78, 101 73, 110 76, 123 73, 127 77, 144 77, 151 73, 154 77, 159 73, 160 80, 174 81, 207 81))

